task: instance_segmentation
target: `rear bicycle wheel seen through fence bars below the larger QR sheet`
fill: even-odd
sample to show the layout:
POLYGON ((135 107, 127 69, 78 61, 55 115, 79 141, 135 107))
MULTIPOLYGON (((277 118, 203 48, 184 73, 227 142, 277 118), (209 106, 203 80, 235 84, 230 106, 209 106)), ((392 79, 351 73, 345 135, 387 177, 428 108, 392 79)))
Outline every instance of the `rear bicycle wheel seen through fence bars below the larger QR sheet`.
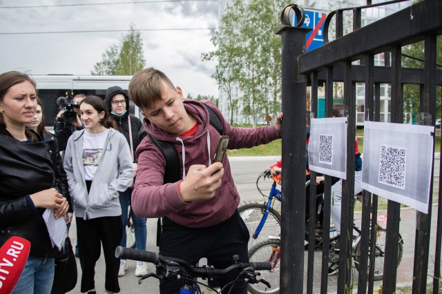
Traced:
MULTIPOLYGON (((384 276, 384 259, 385 259, 385 237, 387 235, 387 231, 382 228, 378 228, 376 231, 376 245, 374 247, 374 277, 373 280, 381 281, 384 276)), ((403 243, 402 237, 399 234, 399 242, 398 242, 398 266, 401 264, 402 254, 403 254, 403 243)), ((356 269, 359 271, 359 262, 358 259, 361 257, 361 242, 356 244, 354 250, 354 265, 356 269)), ((369 265, 369 259, 368 259, 369 265)))

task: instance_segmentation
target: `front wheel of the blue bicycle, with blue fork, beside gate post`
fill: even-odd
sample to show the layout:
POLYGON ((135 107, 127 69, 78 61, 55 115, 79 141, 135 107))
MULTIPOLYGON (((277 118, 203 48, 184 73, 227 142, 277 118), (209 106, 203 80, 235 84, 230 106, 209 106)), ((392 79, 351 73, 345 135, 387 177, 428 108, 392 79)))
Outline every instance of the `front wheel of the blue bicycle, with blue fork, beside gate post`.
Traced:
POLYGON ((262 226, 260 234, 256 236, 256 238, 253 237, 256 228, 260 224, 261 219, 265 214, 266 207, 267 206, 265 204, 260 203, 244 204, 238 207, 240 216, 249 229, 249 248, 253 246, 253 244, 267 239, 268 235, 279 236, 281 233, 281 215, 274 208, 270 208, 269 214, 267 215, 264 226, 262 226))

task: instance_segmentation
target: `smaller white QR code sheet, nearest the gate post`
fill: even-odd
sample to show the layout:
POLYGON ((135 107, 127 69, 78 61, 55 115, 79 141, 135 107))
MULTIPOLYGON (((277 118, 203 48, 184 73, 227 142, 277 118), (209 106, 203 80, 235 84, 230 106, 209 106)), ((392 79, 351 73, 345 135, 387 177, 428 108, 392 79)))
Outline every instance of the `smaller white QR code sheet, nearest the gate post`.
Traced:
POLYGON ((311 119, 309 169, 347 179, 347 117, 311 119))

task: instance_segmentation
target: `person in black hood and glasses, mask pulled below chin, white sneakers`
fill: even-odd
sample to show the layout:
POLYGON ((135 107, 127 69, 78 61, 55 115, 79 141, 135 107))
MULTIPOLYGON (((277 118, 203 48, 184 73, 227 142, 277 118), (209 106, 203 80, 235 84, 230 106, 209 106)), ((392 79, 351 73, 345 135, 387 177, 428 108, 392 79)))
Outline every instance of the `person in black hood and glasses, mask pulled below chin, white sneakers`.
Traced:
MULTIPOLYGON (((106 106, 108 106, 109 112, 111 112, 111 121, 113 121, 114 128, 123 133, 124 137, 128 141, 131 147, 131 154, 133 159, 133 176, 137 175, 137 159, 135 158, 135 150, 140 144, 138 133, 143 128, 143 124, 137 117, 133 116, 129 112, 129 99, 128 95, 119 86, 113 86, 106 90, 106 106)), ((128 188, 123 193, 119 194, 119 203, 122 206, 122 223, 123 223, 123 237, 121 246, 126 246, 126 225, 128 222, 128 213, 130 213, 135 226, 135 247, 140 250, 146 250, 147 228, 146 219, 137 217, 133 210, 128 212, 128 206, 131 205, 132 188, 128 188)), ((132 244, 131 244, 132 245, 132 244)), ((121 259, 119 264, 119 277, 126 274, 128 268, 126 260, 121 259)), ((144 262, 137 262, 135 268, 135 275, 142 277, 147 275, 147 264, 144 262)))

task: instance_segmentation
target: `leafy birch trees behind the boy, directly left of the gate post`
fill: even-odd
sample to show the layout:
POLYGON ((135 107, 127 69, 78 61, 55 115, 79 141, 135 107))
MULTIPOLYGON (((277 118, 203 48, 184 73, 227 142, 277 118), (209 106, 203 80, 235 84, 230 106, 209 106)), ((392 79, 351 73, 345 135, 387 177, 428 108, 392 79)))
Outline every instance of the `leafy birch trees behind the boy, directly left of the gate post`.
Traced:
POLYGON ((238 99, 242 115, 253 126, 257 117, 279 111, 281 43, 275 32, 285 4, 280 0, 233 1, 221 18, 220 29, 212 32, 217 49, 204 53, 202 60, 218 61, 212 77, 227 94, 231 124, 239 111, 238 99))

